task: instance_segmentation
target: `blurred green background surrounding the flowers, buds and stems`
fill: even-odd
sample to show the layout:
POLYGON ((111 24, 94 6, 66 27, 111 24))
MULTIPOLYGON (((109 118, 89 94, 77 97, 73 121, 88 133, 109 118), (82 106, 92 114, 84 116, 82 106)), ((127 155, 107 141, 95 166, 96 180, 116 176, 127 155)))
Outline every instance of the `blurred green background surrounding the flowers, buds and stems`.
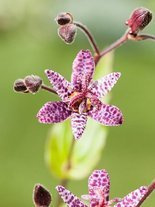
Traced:
MULTIPOLYGON (((33 96, 12 90, 14 80, 28 74, 48 83, 46 68, 69 79, 77 52, 90 48, 80 31, 73 45, 65 45, 57 36, 54 17, 70 11, 90 28, 102 48, 121 36, 124 22, 139 6, 155 14, 154 0, 0 0, 0 206, 33 206, 32 188, 38 182, 56 196, 59 181, 44 162, 50 126, 35 117, 56 97, 44 91, 33 96)), ((155 20, 145 31, 155 34, 155 20)), ((97 166, 110 173, 111 197, 124 196, 155 178, 155 42, 125 44, 115 53, 114 70, 122 77, 111 102, 121 108, 125 123, 109 128, 97 166)), ((86 194, 87 179, 71 181, 69 189, 86 194)), ((155 194, 143 206, 155 206, 155 194)))

